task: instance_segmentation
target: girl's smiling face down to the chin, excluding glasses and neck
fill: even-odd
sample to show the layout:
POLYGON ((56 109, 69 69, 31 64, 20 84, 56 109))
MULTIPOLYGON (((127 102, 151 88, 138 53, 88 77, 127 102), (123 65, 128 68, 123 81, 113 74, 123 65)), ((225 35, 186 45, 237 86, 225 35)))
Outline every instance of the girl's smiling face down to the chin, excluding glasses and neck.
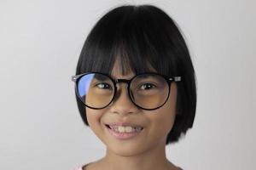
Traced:
MULTIPOLYGON (((120 73, 118 64, 113 66, 114 79, 131 79, 135 74, 129 72, 125 76, 120 73)), ((118 92, 113 104, 102 110, 86 107, 86 116, 90 128, 107 146, 107 150, 119 156, 137 156, 166 145, 167 134, 172 129, 175 120, 177 86, 172 82, 170 96, 166 104, 154 111, 145 111, 133 105, 127 92, 127 84, 119 83, 118 92), (116 135, 107 126, 111 124, 115 130, 126 133, 131 127, 143 127, 131 137, 116 135), (123 126, 122 126, 123 125, 123 126), (121 136, 121 137, 120 137, 121 136)), ((119 134, 119 133, 118 133, 119 134)), ((124 135, 124 136, 125 136, 124 135)))

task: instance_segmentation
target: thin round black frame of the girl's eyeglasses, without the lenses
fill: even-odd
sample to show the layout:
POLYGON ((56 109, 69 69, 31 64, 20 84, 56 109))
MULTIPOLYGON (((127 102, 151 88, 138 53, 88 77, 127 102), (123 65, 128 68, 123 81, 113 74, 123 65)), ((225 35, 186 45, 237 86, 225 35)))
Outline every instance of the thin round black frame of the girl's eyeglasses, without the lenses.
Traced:
MULTIPOLYGON (((166 104, 166 101, 169 99, 169 96, 170 96, 171 83, 172 83, 172 82, 180 82, 180 81, 181 81, 181 77, 166 77, 166 76, 164 76, 164 75, 161 75, 161 74, 155 73, 155 72, 143 72, 143 73, 140 73, 140 74, 135 75, 134 77, 131 77, 130 80, 128 80, 128 79, 113 79, 113 78, 112 78, 111 76, 109 76, 108 74, 104 74, 104 73, 101 73, 101 72, 86 72, 86 73, 79 74, 79 75, 75 75, 75 76, 72 76, 72 77, 71 77, 71 78, 72 78, 72 81, 76 83, 76 85, 75 85, 75 92, 76 92, 76 95, 78 96, 79 100, 80 100, 83 104, 84 104, 84 101, 83 101, 82 99, 80 99, 80 97, 79 97, 78 83, 77 83, 77 82, 79 82, 79 79, 80 79, 81 77, 84 77, 85 75, 89 75, 89 74, 101 74, 101 75, 103 75, 103 76, 108 77, 108 78, 113 82, 113 86, 114 86, 113 98, 112 98, 111 101, 108 103, 108 105, 110 105, 110 104, 113 102, 113 99, 115 98, 115 95, 116 95, 116 93, 117 93, 117 84, 120 83, 120 82, 125 82, 125 83, 128 84, 128 86, 127 86, 127 91, 128 91, 128 94, 129 94, 129 98, 131 99, 131 102, 132 102, 134 105, 136 105, 138 108, 143 109, 143 110, 146 110, 146 111, 154 111, 154 110, 159 109, 159 108, 162 107, 163 105, 165 105, 165 104, 166 104), (142 106, 137 105, 137 104, 135 103, 135 101, 133 101, 133 99, 131 98, 131 89, 130 89, 130 87, 131 87, 131 82, 132 82, 132 80, 134 80, 134 79, 135 79, 136 77, 138 77, 138 76, 147 75, 147 74, 149 74, 149 75, 157 75, 157 76, 163 77, 163 78, 166 80, 167 84, 168 84, 168 96, 167 96, 167 98, 166 98, 166 101, 165 101, 162 105, 160 105, 160 106, 158 106, 158 107, 156 107, 156 108, 154 108, 154 109, 146 109, 146 108, 143 108, 142 106)), ((89 107, 90 109, 94 109, 94 110, 101 110, 101 109, 104 109, 104 108, 108 107, 108 105, 105 105, 105 106, 103 106, 103 107, 101 107, 101 108, 95 108, 95 107, 91 107, 90 105, 86 105, 86 104, 84 104, 84 105, 85 105, 86 107, 89 107)))

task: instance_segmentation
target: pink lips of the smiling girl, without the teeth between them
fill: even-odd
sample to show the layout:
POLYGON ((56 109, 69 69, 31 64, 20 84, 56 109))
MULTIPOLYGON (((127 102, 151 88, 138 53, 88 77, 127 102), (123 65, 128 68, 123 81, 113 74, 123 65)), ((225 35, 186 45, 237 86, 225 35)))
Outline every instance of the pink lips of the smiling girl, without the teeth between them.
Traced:
POLYGON ((132 132, 132 133, 117 133, 113 129, 109 128, 108 126, 131 126, 131 127, 142 127, 142 126, 133 124, 133 123, 128 123, 128 122, 106 123, 105 127, 107 128, 108 133, 110 133, 115 139, 133 139, 133 138, 137 137, 137 135, 142 133, 143 129, 144 129, 144 127, 143 127, 143 129, 141 131, 136 131, 136 132, 132 132))

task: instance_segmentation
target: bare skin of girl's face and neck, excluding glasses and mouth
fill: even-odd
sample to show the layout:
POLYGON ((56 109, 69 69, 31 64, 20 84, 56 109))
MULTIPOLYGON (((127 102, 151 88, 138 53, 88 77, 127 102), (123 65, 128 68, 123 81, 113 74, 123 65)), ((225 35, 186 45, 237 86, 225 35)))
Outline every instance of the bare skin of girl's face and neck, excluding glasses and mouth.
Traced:
MULTIPOLYGON (((113 66, 112 77, 131 79, 132 71, 121 75, 118 64, 113 66)), ((166 137, 175 120, 177 86, 171 85, 166 104, 154 111, 145 111, 133 105, 127 92, 127 84, 118 84, 118 94, 112 105, 102 110, 86 107, 91 130, 106 145, 106 156, 84 167, 86 170, 177 170, 166 159, 166 137), (109 122, 130 122, 143 127, 133 139, 115 139, 105 126, 109 122)))

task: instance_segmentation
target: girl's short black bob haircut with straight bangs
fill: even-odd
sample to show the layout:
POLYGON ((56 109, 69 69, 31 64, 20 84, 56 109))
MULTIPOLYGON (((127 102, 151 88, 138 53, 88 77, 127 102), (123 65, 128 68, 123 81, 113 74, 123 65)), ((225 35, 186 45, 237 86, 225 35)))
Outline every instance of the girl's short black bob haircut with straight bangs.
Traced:
MULTIPOLYGON (((89 71, 111 74, 116 60, 121 73, 155 71, 182 77, 177 83, 176 118, 166 144, 177 142, 193 126, 196 109, 195 70, 177 24, 153 5, 123 5, 103 15, 84 42, 76 75, 89 71)), ((79 113, 89 125, 85 105, 79 113)))

